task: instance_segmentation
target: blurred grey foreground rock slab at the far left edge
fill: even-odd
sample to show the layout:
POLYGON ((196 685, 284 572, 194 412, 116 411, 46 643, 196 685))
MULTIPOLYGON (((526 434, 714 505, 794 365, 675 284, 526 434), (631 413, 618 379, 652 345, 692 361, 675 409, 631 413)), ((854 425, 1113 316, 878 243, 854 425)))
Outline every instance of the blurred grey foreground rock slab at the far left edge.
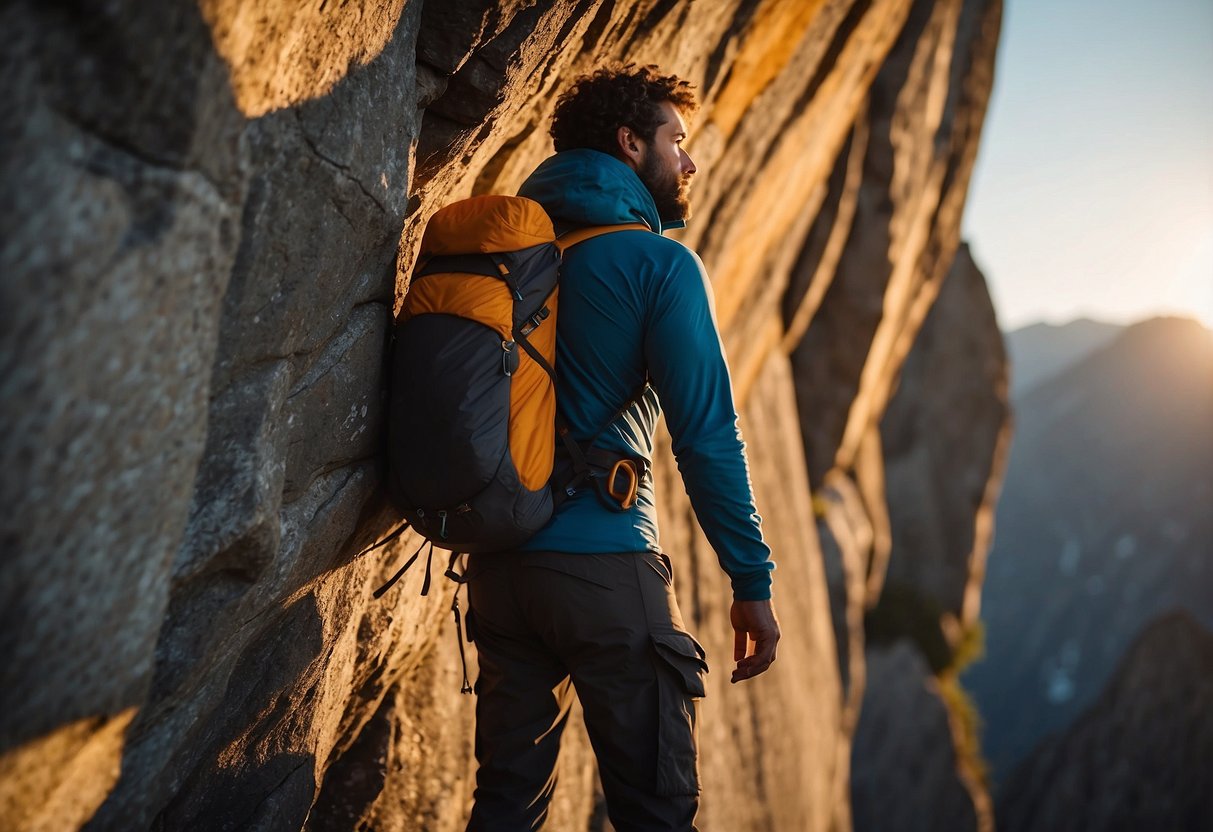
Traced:
POLYGON ((97 800, 113 782, 152 678, 239 243, 239 120, 205 25, 166 6, 118 17, 0 12, 0 748, 55 750, 19 767, 50 791, 5 779, 6 817, 59 817, 45 796, 97 800))

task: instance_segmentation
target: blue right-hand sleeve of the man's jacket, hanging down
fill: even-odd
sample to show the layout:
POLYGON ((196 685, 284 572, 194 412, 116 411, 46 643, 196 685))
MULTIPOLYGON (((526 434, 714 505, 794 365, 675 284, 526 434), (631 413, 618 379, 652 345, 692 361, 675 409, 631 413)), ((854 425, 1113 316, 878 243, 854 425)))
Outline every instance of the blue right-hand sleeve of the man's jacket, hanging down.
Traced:
POLYGON ((691 507, 738 600, 770 598, 770 548, 754 508, 711 285, 699 257, 678 246, 653 281, 645 359, 661 399, 691 507))

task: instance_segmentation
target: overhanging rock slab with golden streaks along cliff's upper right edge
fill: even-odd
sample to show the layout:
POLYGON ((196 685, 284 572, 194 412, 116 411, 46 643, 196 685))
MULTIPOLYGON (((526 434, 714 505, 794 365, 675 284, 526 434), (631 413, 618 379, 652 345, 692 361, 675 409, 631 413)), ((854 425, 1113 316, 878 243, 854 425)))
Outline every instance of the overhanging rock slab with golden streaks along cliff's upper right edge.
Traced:
POLYGON ((784 297, 844 679, 859 669, 862 615, 892 546, 879 422, 959 243, 1000 19, 1000 4, 911 7, 784 297))

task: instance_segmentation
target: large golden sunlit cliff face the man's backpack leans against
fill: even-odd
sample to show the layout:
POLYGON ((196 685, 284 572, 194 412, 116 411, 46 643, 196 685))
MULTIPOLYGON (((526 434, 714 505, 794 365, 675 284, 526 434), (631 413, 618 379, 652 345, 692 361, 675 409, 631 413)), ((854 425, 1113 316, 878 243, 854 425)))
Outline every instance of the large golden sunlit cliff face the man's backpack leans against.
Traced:
MULTIPOLYGON (((252 8, 0 11, 0 814, 462 827, 452 586, 420 597, 414 570, 374 600, 420 541, 357 557, 391 526, 385 337, 426 220, 516 188, 559 89, 622 58, 704 101, 682 239, 779 560, 778 672, 729 686, 727 581, 664 454, 664 546, 714 667, 701 822, 848 828, 864 575, 889 541, 877 426, 958 244, 1001 4, 252 8), (854 534, 814 523, 810 483, 854 534), (849 576, 845 672, 827 574, 849 576)), ((590 824, 593 780, 570 730, 554 828, 590 824)))

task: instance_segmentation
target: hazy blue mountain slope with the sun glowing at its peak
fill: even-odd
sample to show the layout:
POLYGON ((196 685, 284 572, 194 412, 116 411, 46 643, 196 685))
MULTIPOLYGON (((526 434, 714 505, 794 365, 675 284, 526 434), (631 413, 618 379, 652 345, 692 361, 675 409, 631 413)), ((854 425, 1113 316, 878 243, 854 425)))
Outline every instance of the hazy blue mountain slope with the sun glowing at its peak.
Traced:
MULTIPOLYGON (((1014 372, 1014 369, 1013 369, 1014 372)), ((1213 627, 1213 335, 1158 318, 1023 392, 964 676, 996 780, 1103 689, 1140 629, 1213 627)))

